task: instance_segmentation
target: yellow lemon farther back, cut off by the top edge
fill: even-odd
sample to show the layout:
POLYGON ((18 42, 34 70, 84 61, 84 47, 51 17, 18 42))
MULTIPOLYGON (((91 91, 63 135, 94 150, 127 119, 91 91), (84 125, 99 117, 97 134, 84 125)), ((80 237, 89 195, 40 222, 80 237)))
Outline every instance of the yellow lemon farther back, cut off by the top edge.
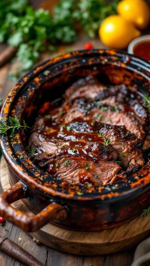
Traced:
POLYGON ((122 0, 117 6, 117 11, 140 30, 144 30, 149 24, 150 8, 144 0, 122 0))

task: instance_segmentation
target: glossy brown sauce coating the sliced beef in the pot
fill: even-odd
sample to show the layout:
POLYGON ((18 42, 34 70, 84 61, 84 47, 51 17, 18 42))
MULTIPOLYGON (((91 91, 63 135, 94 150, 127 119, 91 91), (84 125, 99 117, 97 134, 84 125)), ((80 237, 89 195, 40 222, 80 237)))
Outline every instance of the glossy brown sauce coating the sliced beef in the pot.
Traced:
MULTIPOLYGON (((132 93, 131 99, 137 102, 141 101, 141 97, 136 92, 132 93)), ((70 123, 65 124, 64 122, 66 113, 70 109, 69 104, 65 102, 64 105, 63 101, 61 103, 59 102, 59 104, 56 101, 54 105, 50 102, 45 102, 44 104, 42 104, 39 110, 39 117, 37 118, 44 119, 44 123, 37 130, 38 138, 41 141, 53 145, 55 150, 57 149, 56 152, 58 153, 58 157, 56 156, 56 158, 51 160, 48 164, 48 169, 46 169, 46 172, 48 174, 52 174, 54 177, 57 177, 57 160, 61 160, 61 154, 62 156, 64 156, 65 154, 66 160, 71 156, 71 159, 77 162, 78 178, 80 183, 84 184, 85 182, 88 182, 93 184, 91 178, 89 177, 89 174, 92 174, 94 172, 94 163, 98 164, 98 161, 100 160, 112 160, 111 152, 113 148, 110 146, 110 149, 108 149, 108 151, 105 150, 105 155, 103 154, 103 156, 101 156, 101 154, 99 154, 98 152, 92 152, 90 148, 85 149, 85 145, 87 145, 89 142, 98 142, 104 144, 103 137, 100 136, 100 134, 98 135, 94 130, 94 115, 98 108, 105 108, 105 111, 111 112, 112 106, 100 104, 100 106, 98 107, 98 101, 87 102, 86 99, 77 99, 74 103, 76 104, 76 108, 80 110, 81 113, 83 113, 83 117, 74 119, 72 123, 78 124, 83 121, 90 123, 89 127, 84 128, 83 133, 82 130, 80 130, 80 132, 78 132, 77 130, 72 130, 72 128, 69 126, 70 123), (88 167, 89 161, 90 168, 87 171, 85 169, 85 166, 88 167)), ((135 110, 129 104, 118 103, 115 111, 116 114, 127 113, 133 115, 135 110)), ((102 119, 100 119, 100 121, 98 122, 107 124, 107 121, 103 121, 102 119)), ((110 130, 110 134, 113 134, 114 139, 117 139, 117 132, 111 132, 110 130)), ((122 147, 124 147, 124 141, 122 141, 122 147)), ((40 148, 37 149, 37 151, 38 153, 44 152, 44 150, 40 150, 40 148)), ((132 147, 130 151, 132 153, 132 147)), ((139 153, 135 153, 134 158, 136 159, 138 156, 139 153)), ((105 165, 102 165, 101 167, 99 167, 99 169, 101 171, 105 171, 106 167, 105 165)), ((57 178, 59 178, 59 176, 57 178)))

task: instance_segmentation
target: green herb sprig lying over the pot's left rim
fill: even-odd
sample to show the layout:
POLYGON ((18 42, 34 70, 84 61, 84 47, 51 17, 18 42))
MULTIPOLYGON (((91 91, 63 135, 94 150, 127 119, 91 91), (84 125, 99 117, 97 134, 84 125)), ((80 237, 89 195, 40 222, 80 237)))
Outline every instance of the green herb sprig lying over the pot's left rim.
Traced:
POLYGON ((6 134, 8 130, 11 130, 10 138, 14 136, 15 130, 18 130, 19 128, 22 128, 24 131, 26 128, 30 127, 27 126, 25 120, 23 120, 23 125, 21 126, 17 117, 13 118, 9 116, 9 120, 6 123, 0 121, 0 134, 6 134))

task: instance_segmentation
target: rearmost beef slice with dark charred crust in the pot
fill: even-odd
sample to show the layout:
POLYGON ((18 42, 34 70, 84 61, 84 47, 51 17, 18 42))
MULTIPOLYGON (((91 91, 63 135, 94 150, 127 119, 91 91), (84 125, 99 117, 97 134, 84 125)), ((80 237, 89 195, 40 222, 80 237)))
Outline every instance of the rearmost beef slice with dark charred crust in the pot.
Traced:
MULTIPOLYGON (((138 95, 135 87, 127 87, 124 84, 121 85, 102 85, 98 84, 97 80, 92 79, 92 84, 87 84, 87 82, 79 82, 78 84, 73 84, 66 91, 66 98, 69 98, 69 102, 72 102, 77 98, 85 98, 88 101, 98 101, 108 106, 119 106, 119 109, 129 116, 133 116, 141 125, 145 126, 148 119, 148 112, 142 105, 142 97, 138 95), (81 86, 81 84, 85 86, 81 86), (68 93, 69 92, 69 93, 68 93)), ((75 112, 75 115, 78 115, 75 112)))

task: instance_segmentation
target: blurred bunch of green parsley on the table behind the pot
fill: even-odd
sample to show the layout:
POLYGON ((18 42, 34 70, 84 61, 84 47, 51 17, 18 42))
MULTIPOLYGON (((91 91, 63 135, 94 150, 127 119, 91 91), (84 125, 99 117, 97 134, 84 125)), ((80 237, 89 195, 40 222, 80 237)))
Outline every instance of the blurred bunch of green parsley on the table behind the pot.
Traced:
POLYGON ((10 73, 11 80, 30 69, 39 52, 54 51, 54 44, 75 41, 77 23, 90 38, 96 37, 102 20, 116 13, 118 2, 113 0, 108 5, 104 0, 60 0, 50 14, 48 10, 34 10, 28 0, 0 0, 0 43, 18 47, 16 56, 23 63, 15 75, 10 73))

